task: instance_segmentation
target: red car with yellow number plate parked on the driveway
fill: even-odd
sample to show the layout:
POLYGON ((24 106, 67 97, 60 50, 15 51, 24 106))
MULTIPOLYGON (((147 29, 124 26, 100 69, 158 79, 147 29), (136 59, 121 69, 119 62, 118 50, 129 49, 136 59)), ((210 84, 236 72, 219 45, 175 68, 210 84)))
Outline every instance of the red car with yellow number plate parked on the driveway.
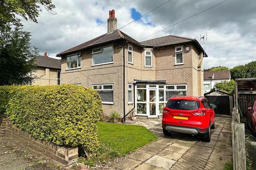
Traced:
POLYGON ((211 129, 215 127, 215 113, 203 96, 174 96, 163 108, 162 128, 164 135, 171 132, 201 135, 211 141, 211 129))

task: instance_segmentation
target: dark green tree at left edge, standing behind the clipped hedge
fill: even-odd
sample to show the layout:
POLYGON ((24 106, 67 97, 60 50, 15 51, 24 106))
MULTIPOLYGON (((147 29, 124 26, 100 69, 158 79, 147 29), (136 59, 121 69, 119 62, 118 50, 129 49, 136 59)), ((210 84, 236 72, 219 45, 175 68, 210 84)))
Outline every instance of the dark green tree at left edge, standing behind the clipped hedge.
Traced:
POLYGON ((28 84, 36 56, 38 51, 30 45, 30 32, 22 31, 20 23, 14 28, 0 28, 0 86, 28 84))

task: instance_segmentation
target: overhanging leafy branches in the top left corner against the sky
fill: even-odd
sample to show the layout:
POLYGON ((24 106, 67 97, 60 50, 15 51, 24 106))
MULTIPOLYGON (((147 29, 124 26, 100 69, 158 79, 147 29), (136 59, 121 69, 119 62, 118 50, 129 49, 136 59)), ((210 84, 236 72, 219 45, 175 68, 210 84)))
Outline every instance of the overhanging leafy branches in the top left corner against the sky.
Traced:
POLYGON ((0 27, 7 23, 19 22, 17 15, 25 20, 37 22, 41 7, 51 11, 55 6, 51 0, 0 0, 0 27))

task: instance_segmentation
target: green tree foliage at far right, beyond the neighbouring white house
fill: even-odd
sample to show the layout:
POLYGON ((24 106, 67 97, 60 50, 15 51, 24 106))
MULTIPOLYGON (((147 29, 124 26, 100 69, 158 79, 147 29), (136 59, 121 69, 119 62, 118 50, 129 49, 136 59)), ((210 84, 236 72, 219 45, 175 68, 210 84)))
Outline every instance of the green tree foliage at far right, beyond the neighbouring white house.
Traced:
POLYGON ((235 66, 230 69, 231 79, 237 78, 255 78, 256 77, 256 61, 252 61, 245 65, 235 66))

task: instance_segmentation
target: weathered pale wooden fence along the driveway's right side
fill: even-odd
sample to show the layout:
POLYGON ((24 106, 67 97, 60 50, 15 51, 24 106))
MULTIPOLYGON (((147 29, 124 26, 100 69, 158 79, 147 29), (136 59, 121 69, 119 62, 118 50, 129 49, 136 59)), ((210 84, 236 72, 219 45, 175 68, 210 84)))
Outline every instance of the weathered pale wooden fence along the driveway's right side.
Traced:
POLYGON ((240 116, 236 107, 233 108, 232 112, 231 133, 233 148, 233 169, 245 170, 246 152, 244 123, 240 123, 240 116))

